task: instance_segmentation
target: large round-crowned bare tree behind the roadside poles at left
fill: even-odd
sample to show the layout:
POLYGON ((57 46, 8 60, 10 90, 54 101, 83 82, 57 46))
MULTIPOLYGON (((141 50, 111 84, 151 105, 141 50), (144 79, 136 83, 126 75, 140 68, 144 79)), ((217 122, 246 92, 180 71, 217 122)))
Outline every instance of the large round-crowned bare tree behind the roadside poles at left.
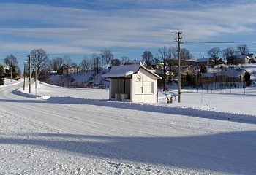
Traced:
POLYGON ((45 68, 48 64, 48 55, 45 50, 42 49, 34 49, 31 51, 31 66, 34 67, 37 71, 37 77, 39 75, 39 71, 45 68))

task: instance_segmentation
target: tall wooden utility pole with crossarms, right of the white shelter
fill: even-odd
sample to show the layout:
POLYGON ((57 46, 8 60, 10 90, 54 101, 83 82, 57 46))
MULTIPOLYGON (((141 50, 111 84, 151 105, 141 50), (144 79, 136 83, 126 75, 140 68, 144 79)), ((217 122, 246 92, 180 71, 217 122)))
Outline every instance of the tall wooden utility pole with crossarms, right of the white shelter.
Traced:
POLYGON ((178 103, 181 103, 181 46, 183 42, 181 42, 182 37, 180 34, 182 34, 181 31, 178 31, 174 33, 178 35, 174 40, 178 42, 178 103))

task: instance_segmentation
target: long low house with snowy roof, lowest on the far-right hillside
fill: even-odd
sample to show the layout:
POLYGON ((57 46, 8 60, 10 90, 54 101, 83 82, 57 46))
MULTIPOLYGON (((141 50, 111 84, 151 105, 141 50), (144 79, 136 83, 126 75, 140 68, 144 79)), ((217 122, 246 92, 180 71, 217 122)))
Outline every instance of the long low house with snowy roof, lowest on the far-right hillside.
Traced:
POLYGON ((245 69, 222 69, 217 73, 217 79, 226 82, 244 82, 246 73, 248 72, 245 69))

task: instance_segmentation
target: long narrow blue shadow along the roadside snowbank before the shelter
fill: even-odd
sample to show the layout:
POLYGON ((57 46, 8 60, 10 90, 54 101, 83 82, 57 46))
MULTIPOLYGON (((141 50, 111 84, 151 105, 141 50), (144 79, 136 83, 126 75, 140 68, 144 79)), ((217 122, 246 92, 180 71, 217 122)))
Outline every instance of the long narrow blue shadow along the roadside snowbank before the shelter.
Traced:
MULTIPOLYGON (((20 96, 20 91, 12 90, 12 93, 20 96)), ((24 94, 22 95, 24 96, 24 94)), ((50 97, 48 100, 35 99, 36 95, 26 94, 26 97, 30 99, 25 100, 5 100, 0 99, 3 102, 20 102, 20 103, 50 103, 50 104, 88 104, 95 106, 107 106, 120 109, 131 109, 145 112, 157 112, 163 114, 178 114, 189 117, 200 117, 214 120, 228 120, 238 123, 251 123, 256 124, 256 116, 249 114, 233 114, 226 112, 217 112, 214 109, 196 109, 190 107, 181 106, 160 106, 158 104, 141 104, 141 103, 127 103, 118 101, 98 100, 98 99, 86 99, 86 98, 73 98, 73 97, 50 97)))

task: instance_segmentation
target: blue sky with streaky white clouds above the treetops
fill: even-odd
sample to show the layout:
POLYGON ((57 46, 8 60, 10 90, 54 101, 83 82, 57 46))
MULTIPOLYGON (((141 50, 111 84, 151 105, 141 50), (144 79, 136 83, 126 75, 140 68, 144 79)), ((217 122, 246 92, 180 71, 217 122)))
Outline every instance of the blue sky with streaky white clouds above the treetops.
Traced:
POLYGON ((238 44, 256 54, 255 9, 256 1, 241 0, 0 0, 0 63, 13 54, 23 65, 35 48, 75 63, 100 50, 139 60, 176 46, 176 31, 195 58, 238 44))

